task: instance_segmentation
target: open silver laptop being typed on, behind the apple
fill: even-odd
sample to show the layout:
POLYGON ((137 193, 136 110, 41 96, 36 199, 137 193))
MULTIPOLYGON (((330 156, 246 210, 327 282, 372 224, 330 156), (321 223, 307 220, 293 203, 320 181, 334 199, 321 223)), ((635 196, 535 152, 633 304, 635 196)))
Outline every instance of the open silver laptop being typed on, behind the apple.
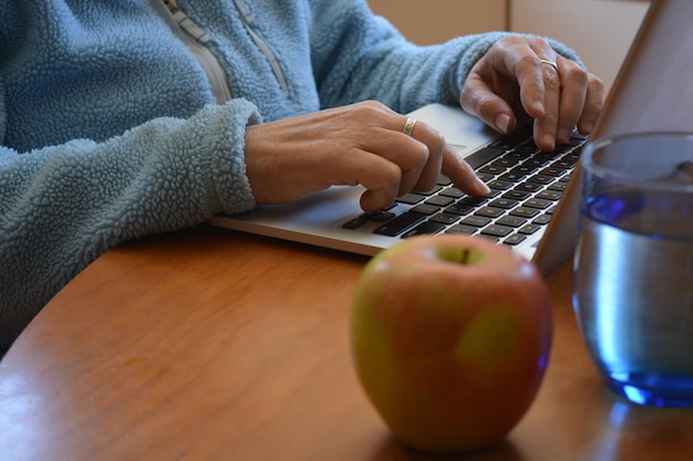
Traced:
MULTIPOLYGON (((643 130, 693 130, 693 1, 655 0, 643 20, 591 139, 643 130), (666 82, 664 85, 661 82, 666 82), (689 99, 690 98, 690 99, 689 99)), ((391 208, 364 213, 361 187, 339 186, 282 206, 220 214, 210 223, 282 240, 374 255, 418 234, 462 232, 492 239, 550 273, 577 243, 579 154, 575 135, 540 153, 530 129, 500 137, 458 107, 433 104, 411 117, 438 129, 492 188, 467 197, 444 177, 433 193, 407 193, 391 208)))

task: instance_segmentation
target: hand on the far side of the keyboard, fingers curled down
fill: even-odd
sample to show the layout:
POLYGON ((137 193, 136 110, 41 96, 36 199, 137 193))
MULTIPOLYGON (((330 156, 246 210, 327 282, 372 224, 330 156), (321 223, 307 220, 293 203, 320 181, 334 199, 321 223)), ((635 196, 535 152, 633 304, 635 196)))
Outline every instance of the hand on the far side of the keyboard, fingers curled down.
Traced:
POLYGON ((462 107, 500 133, 518 117, 535 119, 542 150, 566 143, 573 128, 589 135, 603 104, 603 84, 540 38, 508 36, 474 65, 461 95, 462 107), (556 63, 556 69, 551 63, 556 63))

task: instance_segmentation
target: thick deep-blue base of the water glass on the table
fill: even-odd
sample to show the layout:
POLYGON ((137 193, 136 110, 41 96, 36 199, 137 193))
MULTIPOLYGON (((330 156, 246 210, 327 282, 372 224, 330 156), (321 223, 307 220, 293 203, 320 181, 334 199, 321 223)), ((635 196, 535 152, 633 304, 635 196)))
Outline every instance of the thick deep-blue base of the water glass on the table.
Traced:
POLYGON ((693 407, 691 376, 614 373, 607 377, 607 384, 633 404, 660 408, 693 407))

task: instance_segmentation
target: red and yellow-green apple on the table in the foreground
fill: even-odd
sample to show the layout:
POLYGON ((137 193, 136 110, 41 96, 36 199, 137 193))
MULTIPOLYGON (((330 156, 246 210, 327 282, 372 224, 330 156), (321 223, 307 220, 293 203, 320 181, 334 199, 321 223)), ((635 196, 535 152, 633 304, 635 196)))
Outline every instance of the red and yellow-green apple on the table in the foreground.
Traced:
POLYGON ((364 268, 350 321, 361 385, 392 433, 430 452, 489 447, 519 422, 548 364, 538 269, 482 237, 414 237, 364 268))

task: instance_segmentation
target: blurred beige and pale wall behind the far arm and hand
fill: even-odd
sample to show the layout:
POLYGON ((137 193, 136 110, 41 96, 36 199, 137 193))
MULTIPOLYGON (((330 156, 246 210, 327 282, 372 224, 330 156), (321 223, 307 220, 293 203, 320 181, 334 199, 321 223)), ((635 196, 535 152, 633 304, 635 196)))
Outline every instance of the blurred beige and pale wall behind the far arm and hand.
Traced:
POLYGON ((649 0, 368 1, 420 44, 490 30, 551 36, 575 49, 607 86, 613 84, 650 6, 649 0))

